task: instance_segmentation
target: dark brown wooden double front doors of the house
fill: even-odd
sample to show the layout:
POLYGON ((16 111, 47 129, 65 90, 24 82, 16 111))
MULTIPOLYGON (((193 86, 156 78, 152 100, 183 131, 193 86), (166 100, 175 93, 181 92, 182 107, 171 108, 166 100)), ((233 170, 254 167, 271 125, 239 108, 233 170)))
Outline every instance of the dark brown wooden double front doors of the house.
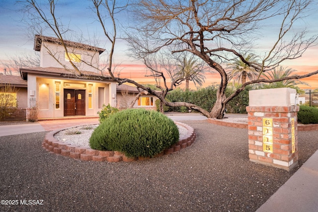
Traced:
POLYGON ((85 116, 85 90, 64 89, 64 116, 85 116))

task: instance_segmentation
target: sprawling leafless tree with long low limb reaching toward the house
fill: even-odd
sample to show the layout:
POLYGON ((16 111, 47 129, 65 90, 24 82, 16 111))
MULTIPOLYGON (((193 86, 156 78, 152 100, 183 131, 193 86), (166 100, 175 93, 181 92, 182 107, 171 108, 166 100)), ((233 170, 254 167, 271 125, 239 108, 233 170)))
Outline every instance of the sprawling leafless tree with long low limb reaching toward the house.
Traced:
MULTIPOLYGON (((54 0, 48 0, 49 11, 44 12, 36 0, 25 0, 26 11, 33 16, 33 25, 49 29, 58 42, 68 52, 65 35, 70 32, 55 16, 54 0)), ((147 66, 157 81, 161 92, 139 84, 127 78, 119 78, 113 72, 113 54, 117 39, 117 15, 126 10, 126 1, 91 0, 93 11, 101 24, 101 29, 110 42, 108 73, 119 84, 130 82, 148 93, 157 96, 167 106, 186 106, 197 110, 210 118, 223 118, 227 103, 242 91, 246 85, 258 82, 275 82, 286 79, 298 79, 318 73, 318 71, 280 79, 255 79, 245 82, 233 94, 226 96, 225 89, 229 76, 225 64, 240 59, 244 64, 262 72, 272 70, 283 61, 297 59, 317 41, 318 36, 307 37, 305 30, 290 35, 294 23, 306 16, 311 0, 134 0, 133 10, 135 30, 129 29, 127 41, 135 58, 147 66), (168 3, 167 3, 168 2, 168 3), (277 39, 267 51, 253 51, 259 29, 266 21, 281 21, 277 30, 277 39), (110 20, 112 24, 106 24, 110 20), (110 26, 110 28, 107 28, 110 26), (188 52, 204 61, 208 67, 221 76, 217 91, 217 101, 211 111, 205 111, 197 105, 186 102, 167 102, 168 91, 186 80, 175 76, 175 58, 188 52), (258 63, 249 62, 244 55, 252 53, 258 63), (174 59, 173 59, 174 58, 174 59)), ((42 32, 42 31, 41 31, 42 32)), ((266 31, 264 32, 266 33, 266 31)), ((52 53, 52 57, 55 55, 52 53)), ((81 74, 75 63, 70 64, 81 74)))

